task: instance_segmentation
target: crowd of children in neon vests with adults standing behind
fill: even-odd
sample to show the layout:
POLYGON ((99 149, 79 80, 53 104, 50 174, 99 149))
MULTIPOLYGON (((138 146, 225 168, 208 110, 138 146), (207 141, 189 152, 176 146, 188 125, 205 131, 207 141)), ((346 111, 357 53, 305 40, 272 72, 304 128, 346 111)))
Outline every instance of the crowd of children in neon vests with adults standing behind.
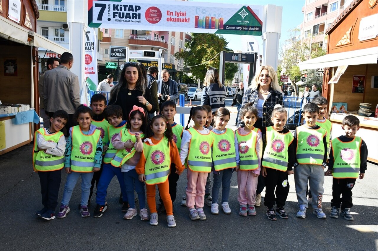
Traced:
MULTIPOLYGON (((66 81, 74 79, 64 71, 72 62, 73 59, 68 63, 63 60, 60 62, 63 67, 57 67, 67 75, 66 81)), ((156 73, 149 72, 150 75, 156 73)), ((181 191, 185 192, 181 205, 188 208, 191 220, 206 220, 205 204, 211 207, 212 214, 219 214, 220 208, 225 214, 231 213, 229 192, 234 172, 237 172, 240 216, 256 215, 256 207, 261 203, 260 193, 265 187, 266 217, 288 219, 284 208, 290 189, 288 175, 294 174, 298 200, 296 217, 305 218, 310 204, 313 214, 325 219, 322 211, 324 175, 332 175, 329 216, 353 220, 350 213, 352 188, 357 178, 364 178, 367 169, 367 147, 356 136, 358 118, 345 116, 342 121, 345 135, 331 139, 332 124, 325 117, 328 101, 318 96, 302 109, 305 123, 294 133, 290 132, 285 127, 287 111, 282 106, 276 73, 272 67, 262 66, 251 87, 243 91, 238 126, 233 131, 226 127, 230 112, 221 104, 225 87, 218 79, 217 70, 209 68, 204 80, 204 103, 191 108, 184 128, 174 121, 177 83, 169 79, 167 72, 161 74, 162 80, 155 85, 159 105, 149 88, 153 81, 147 84, 146 74, 138 63, 128 62, 118 85, 110 92, 108 106, 102 94, 91 97, 90 107, 79 104, 73 112, 45 106, 50 112, 50 126, 37 130, 33 151, 33 167, 39 174, 42 192, 43 208, 37 211, 38 216, 46 220, 65 218, 70 212, 73 189, 81 176, 80 214, 82 217, 91 215, 88 205, 96 185, 93 217, 101 217, 108 208, 108 185, 117 176, 125 220, 139 214, 142 221, 158 225, 158 215, 165 212, 168 227, 175 227, 173 202, 178 192, 177 181, 186 169, 187 185, 185 191, 181 191), (157 107, 160 112, 150 119, 149 113, 157 107), (53 108, 56 110, 51 112, 53 108), (77 125, 73 125, 73 121, 77 125), (68 124, 73 126, 68 129, 66 141, 60 130, 68 124), (56 214, 63 168, 67 179, 56 214), (160 197, 158 208, 156 185, 160 197), (221 186, 222 197, 219 198, 221 186), (311 199, 307 198, 308 193, 311 199)), ((45 74, 47 93, 52 88, 49 75, 45 74)), ((241 90, 243 86, 239 85, 241 90)), ((44 97, 45 104, 50 104, 48 97, 44 97)), ((76 106, 76 99, 70 102, 71 106, 76 106)))

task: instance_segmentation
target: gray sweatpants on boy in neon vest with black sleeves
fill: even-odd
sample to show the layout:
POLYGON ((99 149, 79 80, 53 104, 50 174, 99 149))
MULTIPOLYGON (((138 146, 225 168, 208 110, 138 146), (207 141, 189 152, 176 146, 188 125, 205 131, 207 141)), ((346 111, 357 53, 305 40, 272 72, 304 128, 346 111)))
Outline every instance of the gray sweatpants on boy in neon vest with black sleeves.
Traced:
POLYGON ((298 206, 305 205, 308 208, 306 188, 310 183, 312 194, 312 207, 322 208, 324 193, 324 170, 321 165, 301 165, 294 169, 295 191, 297 193, 298 206))

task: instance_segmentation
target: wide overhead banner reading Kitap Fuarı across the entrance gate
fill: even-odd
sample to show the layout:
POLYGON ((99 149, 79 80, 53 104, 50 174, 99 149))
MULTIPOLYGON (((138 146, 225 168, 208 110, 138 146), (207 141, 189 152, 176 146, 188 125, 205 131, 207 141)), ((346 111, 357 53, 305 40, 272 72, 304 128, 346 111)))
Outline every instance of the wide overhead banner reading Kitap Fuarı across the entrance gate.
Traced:
POLYGON ((262 12, 261 5, 88 0, 88 26, 260 36, 262 12))

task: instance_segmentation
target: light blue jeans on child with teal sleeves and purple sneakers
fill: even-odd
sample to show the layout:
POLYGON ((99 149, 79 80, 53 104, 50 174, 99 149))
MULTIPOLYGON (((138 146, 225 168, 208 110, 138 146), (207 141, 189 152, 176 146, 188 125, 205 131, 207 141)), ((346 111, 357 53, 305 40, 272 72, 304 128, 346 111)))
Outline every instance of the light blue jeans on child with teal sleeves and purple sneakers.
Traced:
POLYGON ((62 198, 62 205, 68 206, 72 196, 72 191, 75 188, 77 179, 81 176, 81 206, 88 205, 89 193, 91 189, 91 181, 93 172, 91 173, 78 173, 71 172, 67 175, 66 184, 64 185, 64 192, 62 198))

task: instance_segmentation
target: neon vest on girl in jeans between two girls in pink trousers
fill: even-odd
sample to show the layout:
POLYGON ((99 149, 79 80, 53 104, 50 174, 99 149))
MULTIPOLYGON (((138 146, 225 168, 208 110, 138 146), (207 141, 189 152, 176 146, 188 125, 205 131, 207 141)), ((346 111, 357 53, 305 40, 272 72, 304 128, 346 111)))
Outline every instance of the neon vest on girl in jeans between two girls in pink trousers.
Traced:
POLYGON ((211 133, 214 138, 212 159, 215 171, 236 167, 235 133, 227 128, 222 134, 211 133))

